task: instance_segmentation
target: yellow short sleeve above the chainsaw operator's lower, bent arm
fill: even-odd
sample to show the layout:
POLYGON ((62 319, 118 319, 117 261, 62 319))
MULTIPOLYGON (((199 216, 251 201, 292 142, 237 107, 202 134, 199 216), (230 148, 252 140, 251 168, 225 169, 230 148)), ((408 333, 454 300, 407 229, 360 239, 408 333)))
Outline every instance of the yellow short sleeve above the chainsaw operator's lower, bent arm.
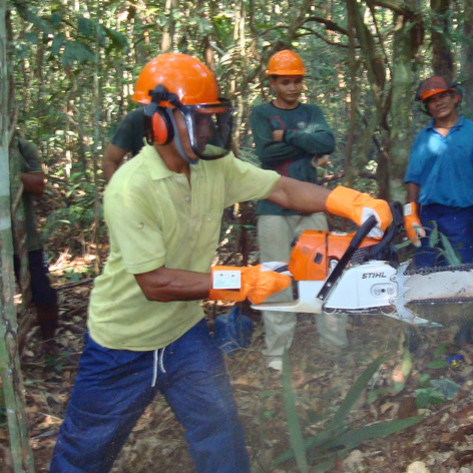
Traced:
POLYGON ((121 257, 131 274, 153 271, 165 264, 166 250, 157 213, 136 190, 105 192, 104 216, 111 257, 121 257))

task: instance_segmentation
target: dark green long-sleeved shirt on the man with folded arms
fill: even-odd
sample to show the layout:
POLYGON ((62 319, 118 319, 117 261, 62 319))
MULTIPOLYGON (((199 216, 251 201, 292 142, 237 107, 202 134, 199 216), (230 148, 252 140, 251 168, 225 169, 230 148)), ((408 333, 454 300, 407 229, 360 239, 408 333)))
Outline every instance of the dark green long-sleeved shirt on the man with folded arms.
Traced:
MULTIPOLYGON (((316 154, 329 154, 335 148, 335 138, 317 105, 299 103, 291 110, 273 103, 259 105, 250 116, 255 151, 263 169, 272 169, 299 181, 317 183, 317 170, 311 160, 316 154), (284 130, 283 141, 273 140, 274 130, 284 130)), ((299 212, 283 209, 263 200, 258 202, 259 215, 295 215, 299 212)))

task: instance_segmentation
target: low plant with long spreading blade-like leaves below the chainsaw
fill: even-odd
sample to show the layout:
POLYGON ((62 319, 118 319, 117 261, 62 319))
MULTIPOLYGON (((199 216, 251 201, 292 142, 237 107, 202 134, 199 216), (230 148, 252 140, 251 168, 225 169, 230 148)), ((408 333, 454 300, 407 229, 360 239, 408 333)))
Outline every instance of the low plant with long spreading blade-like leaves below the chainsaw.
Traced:
POLYGON ((310 452, 313 457, 317 458, 315 469, 311 468, 310 471, 320 473, 328 472, 334 467, 335 458, 343 458, 360 443, 400 432, 418 423, 422 419, 422 416, 381 422, 365 427, 354 427, 351 422, 347 421, 350 411, 358 402, 367 384, 379 369, 382 362, 383 359, 380 357, 366 368, 348 391, 345 399, 336 409, 332 417, 330 413, 322 416, 322 420, 324 421, 323 430, 321 428, 318 434, 304 438, 296 409, 296 396, 290 383, 290 367, 286 353, 283 358, 283 395, 288 419, 291 450, 276 457, 273 461, 273 467, 276 468, 281 463, 291 458, 296 458, 299 471, 301 471, 301 473, 307 472, 309 471, 309 465, 306 454, 310 452))

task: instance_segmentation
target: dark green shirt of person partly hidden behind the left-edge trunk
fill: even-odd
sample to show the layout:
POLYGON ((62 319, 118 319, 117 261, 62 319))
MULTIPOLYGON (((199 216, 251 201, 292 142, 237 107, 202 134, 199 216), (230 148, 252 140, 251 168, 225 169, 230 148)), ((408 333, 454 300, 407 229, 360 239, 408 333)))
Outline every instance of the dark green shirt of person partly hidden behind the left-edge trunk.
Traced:
MULTIPOLYGON (((16 146, 12 147, 12 153, 20 163, 20 172, 34 173, 42 172, 41 163, 39 161, 38 151, 35 145, 22 138, 17 138, 16 146)), ((12 195, 14 198, 14 195, 12 195)), ((23 208, 25 211, 25 232, 26 247, 28 251, 40 250, 43 247, 41 237, 36 228, 36 212, 31 194, 23 193, 23 208)), ((14 252, 17 254, 17 242, 13 241, 14 252)))

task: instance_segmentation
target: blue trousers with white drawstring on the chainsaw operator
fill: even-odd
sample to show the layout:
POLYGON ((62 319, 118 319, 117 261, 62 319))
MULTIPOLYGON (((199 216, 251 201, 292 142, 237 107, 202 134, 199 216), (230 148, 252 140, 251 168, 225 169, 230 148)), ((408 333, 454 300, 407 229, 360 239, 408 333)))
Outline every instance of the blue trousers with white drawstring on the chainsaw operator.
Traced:
POLYGON ((196 472, 249 471, 222 353, 201 321, 157 351, 112 350, 86 335, 50 472, 108 472, 158 390, 185 427, 196 472))

